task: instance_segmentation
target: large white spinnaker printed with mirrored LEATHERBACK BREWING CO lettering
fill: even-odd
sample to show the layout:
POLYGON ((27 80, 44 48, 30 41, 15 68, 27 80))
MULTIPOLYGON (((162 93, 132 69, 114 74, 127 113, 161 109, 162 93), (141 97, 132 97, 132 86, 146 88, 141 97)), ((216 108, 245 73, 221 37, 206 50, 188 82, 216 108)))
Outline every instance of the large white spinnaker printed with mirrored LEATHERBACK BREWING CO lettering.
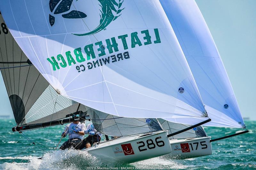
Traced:
POLYGON ((117 116, 206 116, 158 1, 3 0, 0 10, 61 95, 117 116))

